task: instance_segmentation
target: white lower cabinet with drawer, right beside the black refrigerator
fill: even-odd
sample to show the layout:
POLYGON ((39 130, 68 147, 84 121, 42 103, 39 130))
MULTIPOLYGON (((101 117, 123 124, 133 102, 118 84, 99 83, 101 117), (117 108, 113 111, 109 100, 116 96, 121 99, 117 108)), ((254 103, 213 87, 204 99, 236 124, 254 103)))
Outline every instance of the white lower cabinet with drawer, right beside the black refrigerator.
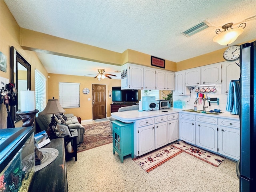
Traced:
POLYGON ((239 120, 219 120, 218 152, 235 160, 240 158, 240 122, 239 120))

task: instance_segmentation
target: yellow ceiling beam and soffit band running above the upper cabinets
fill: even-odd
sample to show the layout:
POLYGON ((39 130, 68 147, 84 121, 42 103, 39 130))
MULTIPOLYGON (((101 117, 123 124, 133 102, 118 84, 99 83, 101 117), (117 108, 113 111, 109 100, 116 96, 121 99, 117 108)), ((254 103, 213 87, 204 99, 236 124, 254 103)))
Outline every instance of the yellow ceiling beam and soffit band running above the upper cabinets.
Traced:
MULTIPOLYGON (((20 28, 20 45, 26 50, 121 66, 127 62, 151 66, 151 56, 134 50, 118 53, 91 45, 20 28)), ((164 58, 163 58, 164 59, 164 58)), ((165 60, 165 69, 176 71, 176 63, 165 60)))

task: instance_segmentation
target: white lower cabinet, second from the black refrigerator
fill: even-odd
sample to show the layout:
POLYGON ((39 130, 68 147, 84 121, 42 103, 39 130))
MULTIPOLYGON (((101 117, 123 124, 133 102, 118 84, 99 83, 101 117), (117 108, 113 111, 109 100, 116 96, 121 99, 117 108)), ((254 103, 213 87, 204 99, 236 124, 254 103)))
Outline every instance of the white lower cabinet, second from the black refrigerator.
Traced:
POLYGON ((217 118, 196 116, 196 145, 217 152, 217 118))

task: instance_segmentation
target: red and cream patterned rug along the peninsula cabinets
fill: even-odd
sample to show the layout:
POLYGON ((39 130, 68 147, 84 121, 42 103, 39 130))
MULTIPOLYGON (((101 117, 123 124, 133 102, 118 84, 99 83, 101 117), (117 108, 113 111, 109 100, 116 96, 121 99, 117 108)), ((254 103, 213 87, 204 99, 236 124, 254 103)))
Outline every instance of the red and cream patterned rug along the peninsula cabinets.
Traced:
POLYGON ((142 157, 134 158, 133 160, 148 173, 181 152, 182 151, 180 149, 169 145, 154 150, 153 152, 150 152, 142 157))

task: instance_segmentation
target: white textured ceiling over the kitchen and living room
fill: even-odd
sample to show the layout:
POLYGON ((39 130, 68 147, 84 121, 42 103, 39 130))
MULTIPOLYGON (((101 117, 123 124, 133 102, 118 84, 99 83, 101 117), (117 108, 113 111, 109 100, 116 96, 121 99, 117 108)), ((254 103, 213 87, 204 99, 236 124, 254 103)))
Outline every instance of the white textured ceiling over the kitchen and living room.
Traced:
MULTIPOLYGON (((5 2, 22 28, 120 53, 132 49, 173 62, 224 48, 212 41, 216 36, 215 30, 229 22, 233 22, 235 28, 243 20, 256 15, 255 0, 5 2), (205 19, 211 27, 189 38, 180 34, 205 19)), ((246 20, 246 24, 244 33, 231 45, 256 38, 255 17, 246 20)), ((71 70, 76 62, 87 62, 43 53, 38 53, 38 57, 49 73, 73 74, 71 70)), ((89 66, 97 68, 98 64, 86 66, 88 68, 74 74, 95 73, 89 66)), ((108 73, 118 70, 116 66, 113 69, 111 65, 109 67, 108 73)))

